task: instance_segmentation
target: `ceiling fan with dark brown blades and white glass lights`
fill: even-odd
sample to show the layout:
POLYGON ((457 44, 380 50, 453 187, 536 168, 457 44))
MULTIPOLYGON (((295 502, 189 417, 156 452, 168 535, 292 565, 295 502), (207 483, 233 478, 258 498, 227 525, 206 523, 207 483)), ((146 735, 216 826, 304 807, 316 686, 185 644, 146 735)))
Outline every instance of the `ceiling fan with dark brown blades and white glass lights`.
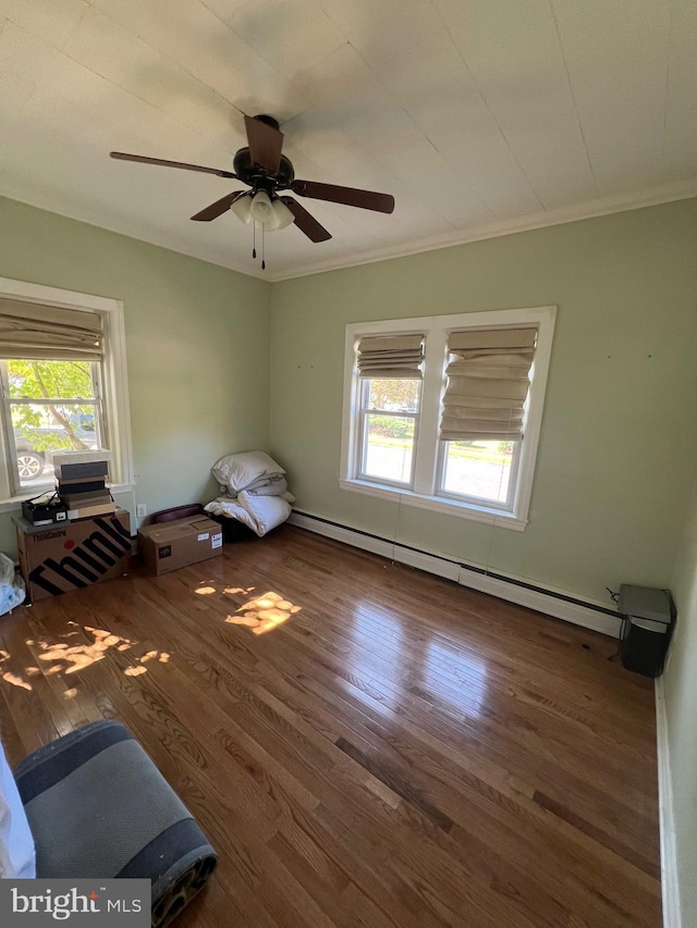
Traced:
MULTIPOLYGON (((322 184, 317 181, 297 181, 293 164, 281 153, 283 133, 279 131, 277 120, 273 116, 260 114, 245 116, 244 124, 248 145, 235 153, 232 162, 234 171, 220 171, 184 161, 166 161, 161 158, 127 154, 123 151, 111 151, 110 154, 122 161, 138 161, 144 164, 159 164, 164 168, 181 168, 184 171, 216 174, 219 177, 242 181, 252 188, 227 194, 193 215, 192 219, 196 222, 210 222, 228 210, 232 210, 245 223, 253 220, 255 226, 259 223, 262 233, 284 228, 295 223, 310 242, 327 242, 331 238, 330 233, 297 200, 281 196, 281 191, 290 190, 298 197, 310 197, 377 212, 391 213, 394 210, 394 197, 389 194, 376 194, 371 190, 322 184)), ((256 248, 253 255, 256 257, 256 248)))

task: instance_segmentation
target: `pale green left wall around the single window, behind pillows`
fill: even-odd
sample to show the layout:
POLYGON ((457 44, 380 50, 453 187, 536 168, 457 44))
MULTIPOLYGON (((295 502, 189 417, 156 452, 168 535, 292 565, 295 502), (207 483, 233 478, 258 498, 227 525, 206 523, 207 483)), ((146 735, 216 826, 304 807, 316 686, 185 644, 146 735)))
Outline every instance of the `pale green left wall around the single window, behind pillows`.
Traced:
MULTIPOLYGON (((0 276, 123 301, 148 511, 212 498, 218 457, 268 447, 270 284, 2 198, 0 276)), ((14 556, 8 515, 0 548, 14 556)))

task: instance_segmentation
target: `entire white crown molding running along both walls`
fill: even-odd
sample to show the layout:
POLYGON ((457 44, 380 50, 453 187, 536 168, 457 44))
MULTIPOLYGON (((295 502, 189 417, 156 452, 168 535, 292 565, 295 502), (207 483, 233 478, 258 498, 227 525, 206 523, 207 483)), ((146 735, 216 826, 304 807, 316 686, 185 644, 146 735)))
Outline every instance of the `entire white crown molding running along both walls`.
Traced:
POLYGON ((239 274, 245 274, 248 277, 255 277, 267 283, 280 283, 281 281, 290 281, 295 277, 306 277, 311 274, 321 274, 327 271, 340 271, 345 268, 355 268, 362 264, 375 264, 379 261, 389 261, 393 258, 406 258, 409 255, 420 255, 425 251, 438 251, 441 248, 453 248, 457 245, 467 245, 472 242, 482 242, 487 238, 500 238, 504 235, 514 235, 518 232, 529 232, 534 228, 546 228, 551 225, 563 225, 567 222, 578 222, 584 219, 594 219, 600 215, 610 215, 616 212, 627 212, 629 210, 643 209, 645 207, 656 207, 661 203, 675 202, 676 200, 688 200, 697 197, 697 181, 681 181, 676 184, 667 184, 660 187, 653 187, 650 190, 639 193, 623 194, 616 197, 603 197, 598 200, 591 200, 586 203, 576 203, 572 207, 563 207, 557 210, 548 210, 539 213, 529 213, 515 219, 501 220, 486 225, 477 225, 466 230, 449 232, 445 235, 431 236, 421 238, 416 242, 401 243, 399 245, 388 245, 384 248, 376 248, 371 251, 359 251, 354 255, 347 255, 345 258, 337 258, 331 261, 316 261, 305 263, 290 270, 279 270, 276 273, 272 269, 266 272, 252 270, 248 265, 235 261, 232 257, 221 261, 211 258, 206 253, 204 247, 183 248, 178 242, 170 238, 169 235, 134 235, 132 230, 127 230, 124 225, 118 223, 105 224, 98 218, 88 214, 86 211, 73 209, 62 202, 54 200, 39 200, 39 198, 26 196, 24 191, 12 191, 8 189, 0 190, 1 197, 7 197, 10 200, 26 203, 36 209, 52 212, 57 215, 63 215, 66 219, 73 219, 76 222, 84 222, 87 225, 94 225, 97 228, 103 228, 107 232, 114 232, 118 235, 124 235, 127 238, 134 238, 136 242, 145 242, 148 245, 155 245, 159 248, 167 248, 170 251, 175 251, 178 255, 186 255, 189 258, 197 258, 199 261, 206 261, 209 264, 216 264, 219 268, 227 268, 229 271, 236 271, 239 274))

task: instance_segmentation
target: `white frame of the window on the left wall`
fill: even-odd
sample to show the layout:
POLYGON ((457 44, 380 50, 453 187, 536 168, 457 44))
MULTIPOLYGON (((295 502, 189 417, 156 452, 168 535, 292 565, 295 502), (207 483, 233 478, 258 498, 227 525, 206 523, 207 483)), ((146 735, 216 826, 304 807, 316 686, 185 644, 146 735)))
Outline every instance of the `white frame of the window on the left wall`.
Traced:
MULTIPOLYGON (((123 304, 108 297, 93 296, 73 290, 47 287, 26 281, 0 277, 0 298, 21 300, 28 304, 56 306, 78 312, 96 312, 101 317, 105 355, 101 361, 102 417, 112 451, 110 488, 112 493, 133 490, 133 448, 131 444, 131 413, 129 407, 129 381, 126 369, 126 339, 123 323, 123 304)), ((8 442, 0 442, 0 512, 21 508, 22 499, 35 496, 36 491, 23 490, 13 494, 8 442)), ((37 485, 38 487, 38 485, 37 485)))

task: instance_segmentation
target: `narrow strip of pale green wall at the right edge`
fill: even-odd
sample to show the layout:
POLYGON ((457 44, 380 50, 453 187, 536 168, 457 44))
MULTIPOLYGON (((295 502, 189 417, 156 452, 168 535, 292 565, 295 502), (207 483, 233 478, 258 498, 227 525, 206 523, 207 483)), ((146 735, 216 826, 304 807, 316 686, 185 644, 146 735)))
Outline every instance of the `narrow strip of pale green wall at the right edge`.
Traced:
POLYGON ((697 925, 697 484, 673 577, 677 628, 663 677, 684 928, 697 925))

